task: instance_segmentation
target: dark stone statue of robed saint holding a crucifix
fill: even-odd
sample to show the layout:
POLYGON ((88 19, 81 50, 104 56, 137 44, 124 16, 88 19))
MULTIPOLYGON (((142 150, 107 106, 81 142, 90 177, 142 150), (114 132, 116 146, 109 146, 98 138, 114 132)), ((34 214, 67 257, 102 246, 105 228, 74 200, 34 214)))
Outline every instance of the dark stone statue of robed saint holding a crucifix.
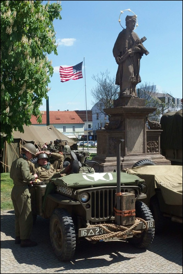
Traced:
POLYGON ((136 85, 141 82, 139 75, 140 59, 143 54, 149 54, 143 46, 146 37, 139 39, 133 31, 136 24, 136 15, 126 16, 126 29, 122 30, 113 48, 113 55, 118 64, 116 85, 120 86, 120 98, 126 95, 137 97, 136 85))

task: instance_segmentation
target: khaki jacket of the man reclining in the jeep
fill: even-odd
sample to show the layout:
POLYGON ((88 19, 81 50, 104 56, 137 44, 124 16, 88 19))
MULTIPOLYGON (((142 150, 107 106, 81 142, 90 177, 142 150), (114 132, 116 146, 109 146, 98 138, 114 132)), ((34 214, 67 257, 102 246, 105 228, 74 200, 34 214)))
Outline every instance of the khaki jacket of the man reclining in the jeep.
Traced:
POLYGON ((30 171, 33 173, 36 173, 38 176, 38 179, 40 180, 47 180, 53 174, 55 174, 57 169, 61 169, 60 167, 63 168, 63 159, 64 156, 60 153, 51 153, 51 156, 55 158, 55 161, 53 164, 50 164, 50 169, 46 169, 44 167, 41 167, 38 163, 34 164, 28 161, 30 171))

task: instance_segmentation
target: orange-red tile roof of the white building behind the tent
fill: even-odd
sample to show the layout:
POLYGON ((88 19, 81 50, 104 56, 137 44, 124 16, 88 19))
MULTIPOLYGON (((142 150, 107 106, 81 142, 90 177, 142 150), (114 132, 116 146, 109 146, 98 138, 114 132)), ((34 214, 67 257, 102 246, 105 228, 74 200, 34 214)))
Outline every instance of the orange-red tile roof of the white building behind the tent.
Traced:
MULTIPOLYGON (((42 111, 42 125, 46 125, 46 111, 42 111)), ((50 125, 53 124, 83 124, 81 118, 75 111, 49 111, 50 125)), ((39 125, 37 118, 32 115, 30 121, 32 125, 39 125)))

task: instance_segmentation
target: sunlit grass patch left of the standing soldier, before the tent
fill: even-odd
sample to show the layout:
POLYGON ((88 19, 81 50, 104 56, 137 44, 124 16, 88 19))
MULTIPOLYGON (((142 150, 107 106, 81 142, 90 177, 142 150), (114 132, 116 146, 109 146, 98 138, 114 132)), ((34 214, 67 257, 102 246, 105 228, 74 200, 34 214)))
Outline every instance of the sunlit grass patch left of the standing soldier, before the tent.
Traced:
POLYGON ((1 173, 1 209, 14 209, 11 199, 13 188, 13 180, 9 177, 9 173, 1 173))

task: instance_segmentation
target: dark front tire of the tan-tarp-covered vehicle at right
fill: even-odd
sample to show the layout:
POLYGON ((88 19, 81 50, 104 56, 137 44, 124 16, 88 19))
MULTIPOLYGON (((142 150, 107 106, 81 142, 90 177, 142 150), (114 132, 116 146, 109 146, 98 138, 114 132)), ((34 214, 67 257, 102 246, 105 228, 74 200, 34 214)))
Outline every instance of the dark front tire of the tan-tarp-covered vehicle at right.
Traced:
POLYGON ((162 232, 165 227, 166 218, 163 216, 163 213, 160 211, 160 205, 158 202, 158 198, 156 196, 153 196, 150 199, 149 207, 154 218, 156 233, 162 232))

